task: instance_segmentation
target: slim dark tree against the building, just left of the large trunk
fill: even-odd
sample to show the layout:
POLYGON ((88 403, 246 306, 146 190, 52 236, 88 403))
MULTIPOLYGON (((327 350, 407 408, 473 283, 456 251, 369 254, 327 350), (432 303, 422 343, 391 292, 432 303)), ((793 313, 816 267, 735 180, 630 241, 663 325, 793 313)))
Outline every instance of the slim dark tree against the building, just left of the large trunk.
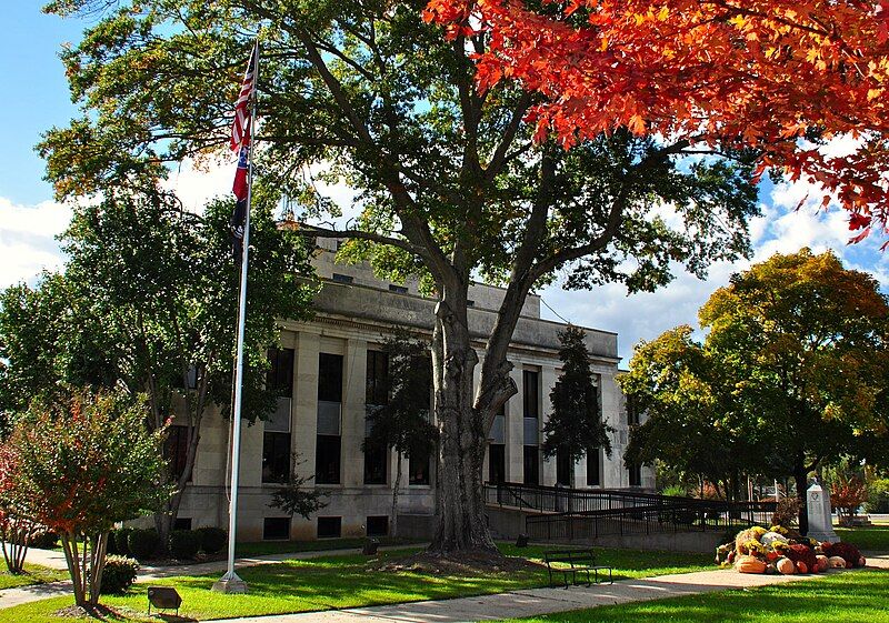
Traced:
POLYGON ((401 458, 429 456, 438 440, 438 430, 430 422, 430 363, 427 345, 409 331, 397 330, 383 342, 388 356, 388 395, 386 404, 368 408, 370 434, 362 444, 368 448, 391 448, 396 451, 396 482, 392 486, 390 526, 398 533, 398 493, 401 488, 401 458))

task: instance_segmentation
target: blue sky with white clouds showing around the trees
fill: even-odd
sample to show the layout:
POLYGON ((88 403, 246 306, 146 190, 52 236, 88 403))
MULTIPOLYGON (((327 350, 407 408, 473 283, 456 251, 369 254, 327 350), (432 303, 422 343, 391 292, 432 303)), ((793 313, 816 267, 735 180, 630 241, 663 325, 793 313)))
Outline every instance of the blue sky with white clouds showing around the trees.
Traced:
MULTIPOLYGON (((33 147, 41 132, 63 125, 78 114, 58 53, 64 42, 79 40, 88 22, 44 16, 39 7, 39 2, 27 0, 7 2, 4 12, 11 28, 7 28, 0 53, 0 74, 9 93, 0 104, 7 137, 6 149, 0 152, 0 288, 33 282, 41 270, 59 268, 62 258, 54 237, 70 219, 70 209, 52 200, 52 189, 42 180, 43 162, 33 147)), ((843 144, 836 149, 842 151, 843 144)), ((173 175, 171 185, 187 207, 198 207, 207 198, 207 189, 211 193, 228 189, 230 180, 230 167, 203 174, 186 164, 173 175)), ((340 201, 349 197, 342 189, 331 189, 331 193, 340 201)), ((807 184, 763 184, 760 200, 766 217, 751 223, 753 261, 775 252, 795 252, 803 245, 816 251, 832 249, 848 267, 873 273, 883 291, 889 290, 889 259, 877 249, 882 240, 847 245, 849 234, 842 213, 836 209, 828 213, 816 211, 820 202, 818 189, 807 184), (803 208, 795 211, 807 193, 803 208)), ((717 264, 705 281, 680 272, 672 284, 652 294, 627 297, 618 285, 566 292, 557 283, 545 289, 542 295, 560 316, 576 324, 617 332, 626 366, 632 344, 640 339, 651 340, 678 324, 696 324, 698 308, 731 273, 749 263, 717 264)), ((546 308, 542 313, 557 319, 546 308)))

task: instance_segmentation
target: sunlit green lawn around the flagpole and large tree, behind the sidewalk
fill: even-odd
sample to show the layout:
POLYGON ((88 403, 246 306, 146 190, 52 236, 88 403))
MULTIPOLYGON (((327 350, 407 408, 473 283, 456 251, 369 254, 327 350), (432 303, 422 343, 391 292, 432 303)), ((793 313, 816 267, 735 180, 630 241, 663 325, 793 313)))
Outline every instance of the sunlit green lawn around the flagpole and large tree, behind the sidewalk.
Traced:
MULTIPOLYGON (((502 545, 508 555, 539 557, 542 547, 517 550, 502 545)), ((411 550, 386 552, 382 557, 403 555, 411 550)), ((709 554, 675 554, 667 552, 633 552, 599 550, 601 562, 615 566, 617 577, 643 577, 711 569, 709 554)), ((219 573, 203 576, 181 576, 158 581, 173 585, 182 595, 180 614, 199 621, 230 616, 282 614, 334 607, 447 599, 541 586, 547 583, 546 571, 529 570, 509 573, 426 574, 418 572, 380 572, 371 567, 373 559, 364 556, 324 556, 304 561, 259 565, 239 571, 250 586, 247 595, 219 595, 210 591, 219 573)), ((102 603, 126 609, 140 621, 146 612, 147 586, 136 585, 127 596, 108 596, 102 603)), ((0 611, 0 623, 61 623, 52 616, 71 603, 70 597, 56 597, 0 611)))

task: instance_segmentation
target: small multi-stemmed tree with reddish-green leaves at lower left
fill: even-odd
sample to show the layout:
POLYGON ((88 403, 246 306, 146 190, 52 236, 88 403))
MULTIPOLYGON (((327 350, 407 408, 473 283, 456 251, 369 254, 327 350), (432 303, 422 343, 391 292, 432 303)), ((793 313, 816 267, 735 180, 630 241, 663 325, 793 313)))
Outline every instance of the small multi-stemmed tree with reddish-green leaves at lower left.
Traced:
POLYGON ((8 498, 21 516, 61 535, 77 605, 98 604, 108 533, 150 513, 163 486, 164 430, 146 430, 146 408, 120 393, 76 393, 33 406, 14 425, 8 498))

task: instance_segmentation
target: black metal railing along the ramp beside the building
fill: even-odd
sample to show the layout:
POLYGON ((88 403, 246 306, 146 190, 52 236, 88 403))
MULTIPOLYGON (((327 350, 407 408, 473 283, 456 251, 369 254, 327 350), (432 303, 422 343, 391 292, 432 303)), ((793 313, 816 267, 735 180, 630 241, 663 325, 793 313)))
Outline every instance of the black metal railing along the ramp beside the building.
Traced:
POLYGON ((579 490, 499 483, 485 485, 492 505, 537 511, 526 518, 536 540, 585 540, 768 523, 775 502, 727 502, 623 490, 579 490))

